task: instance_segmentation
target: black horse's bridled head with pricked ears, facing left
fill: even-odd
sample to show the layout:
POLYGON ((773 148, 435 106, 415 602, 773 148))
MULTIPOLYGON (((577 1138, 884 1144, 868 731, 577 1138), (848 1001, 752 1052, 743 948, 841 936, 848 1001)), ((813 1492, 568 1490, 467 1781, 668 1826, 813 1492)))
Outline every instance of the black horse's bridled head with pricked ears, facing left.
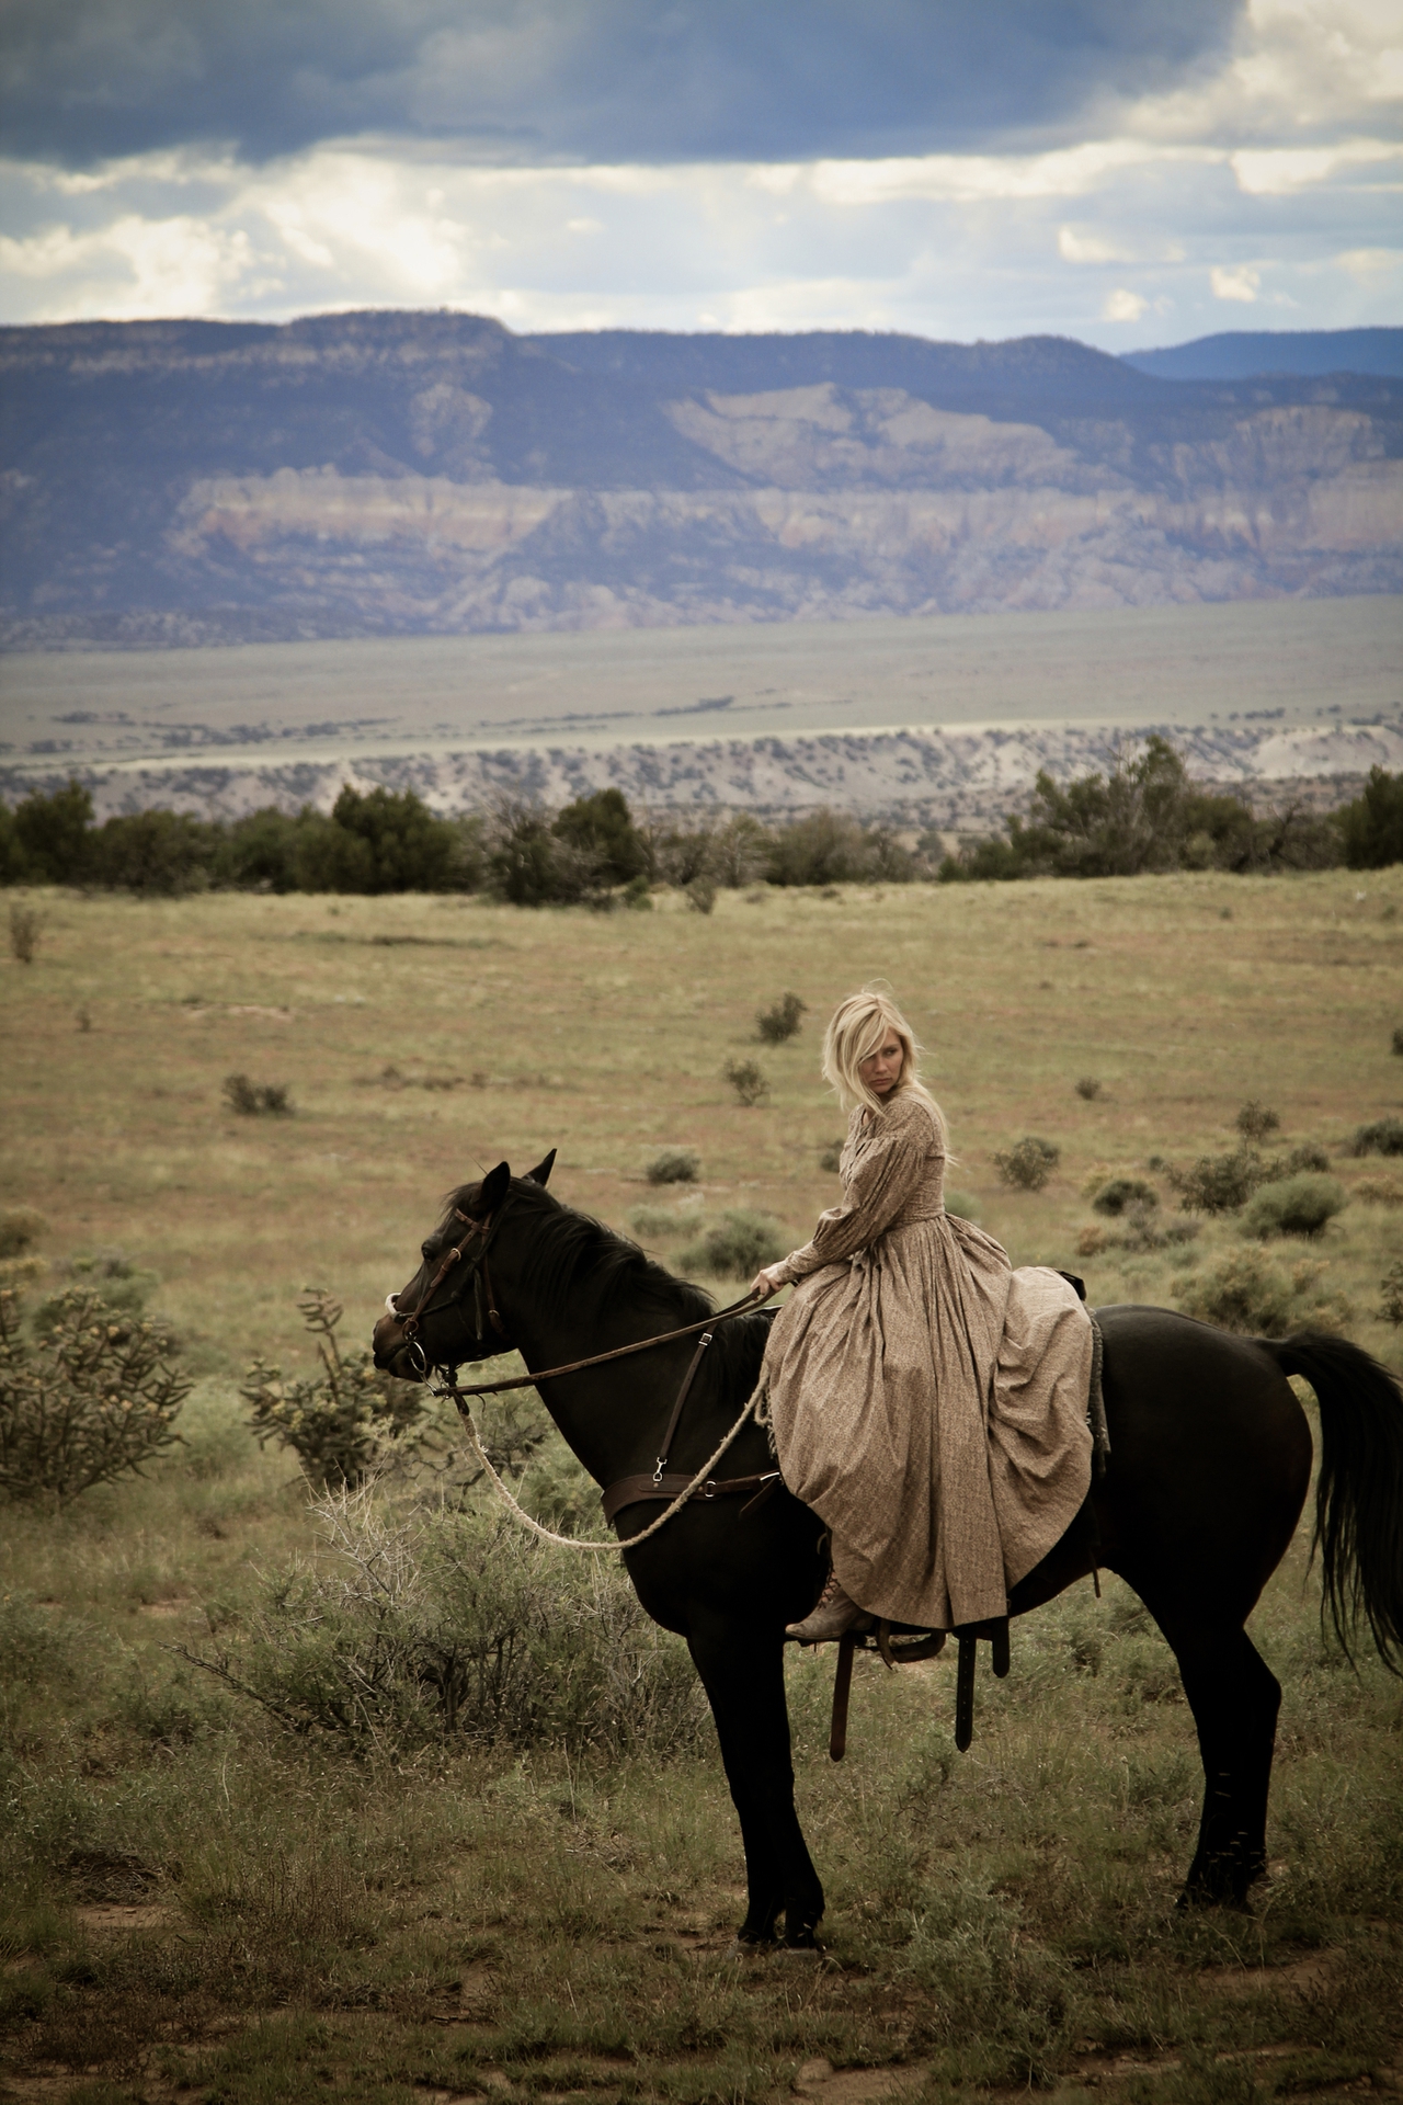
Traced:
MULTIPOLYGON (((555 1149, 528 1170, 545 1185, 555 1149)), ((425 1381, 435 1366, 490 1360, 509 1351, 492 1305, 488 1252, 511 1191, 511 1168, 499 1162, 475 1185, 463 1185, 431 1236, 419 1246, 419 1269, 398 1295, 385 1297, 374 1326, 374 1364, 400 1381, 425 1381)))

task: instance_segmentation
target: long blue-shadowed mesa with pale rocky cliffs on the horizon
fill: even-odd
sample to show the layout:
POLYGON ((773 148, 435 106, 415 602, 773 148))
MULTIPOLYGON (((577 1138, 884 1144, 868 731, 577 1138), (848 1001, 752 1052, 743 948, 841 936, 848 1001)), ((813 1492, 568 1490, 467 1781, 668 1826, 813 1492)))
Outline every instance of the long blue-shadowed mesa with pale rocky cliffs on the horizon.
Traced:
POLYGON ((690 339, 631 341, 604 370, 583 339, 551 341, 459 316, 0 330, 4 634, 1403 589, 1388 379, 1188 385, 1081 345, 825 337, 753 339, 740 368, 715 349, 717 375, 753 379, 772 347, 785 385, 736 389, 679 385, 726 339, 696 339, 686 375, 690 339), (900 385, 850 383, 883 366, 900 385))

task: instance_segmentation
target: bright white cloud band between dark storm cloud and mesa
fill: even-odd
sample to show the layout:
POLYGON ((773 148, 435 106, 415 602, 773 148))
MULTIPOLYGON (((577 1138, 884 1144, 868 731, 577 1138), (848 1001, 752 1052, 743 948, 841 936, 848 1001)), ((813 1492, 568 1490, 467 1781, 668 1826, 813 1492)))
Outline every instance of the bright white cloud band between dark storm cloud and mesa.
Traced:
POLYGON ((1111 349, 1170 341, 1165 318, 1218 328, 1222 301, 1395 322, 1403 143, 1378 82, 1399 44, 1397 0, 1252 0, 1212 78, 1043 154, 501 168, 360 139, 259 168, 194 149, 80 177, 8 162, 0 320, 448 305, 522 330, 1111 349))

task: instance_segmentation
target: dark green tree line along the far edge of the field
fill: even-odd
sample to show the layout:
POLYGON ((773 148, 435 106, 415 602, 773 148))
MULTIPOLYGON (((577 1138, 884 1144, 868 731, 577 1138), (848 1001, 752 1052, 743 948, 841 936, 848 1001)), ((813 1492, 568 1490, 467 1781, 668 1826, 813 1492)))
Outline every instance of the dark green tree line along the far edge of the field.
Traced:
POLYGON ((646 905, 673 884, 709 911, 724 886, 963 884, 1016 878, 1119 878, 1165 869, 1380 869, 1403 861, 1403 773, 1374 768, 1361 796, 1319 815, 1188 779, 1167 739, 1064 787, 1037 777, 1026 813, 947 853, 936 829, 902 838, 837 810, 764 823, 751 813, 644 819, 621 789, 564 810, 503 800, 440 817, 412 789, 349 785, 330 813, 276 806, 242 819, 177 810, 95 821, 78 781, 0 804, 0 884, 76 884, 181 895, 488 893, 513 905, 646 905))

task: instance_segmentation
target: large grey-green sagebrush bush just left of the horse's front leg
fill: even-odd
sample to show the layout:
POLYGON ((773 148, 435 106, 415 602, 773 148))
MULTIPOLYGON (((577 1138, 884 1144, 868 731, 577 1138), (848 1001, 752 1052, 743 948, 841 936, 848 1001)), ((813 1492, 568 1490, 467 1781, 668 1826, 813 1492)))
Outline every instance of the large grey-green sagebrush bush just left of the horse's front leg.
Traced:
POLYGON ((665 1758, 707 1743, 684 1644, 612 1558, 374 1488, 326 1492, 316 1511, 339 1568, 269 1575, 219 1650, 185 1652, 288 1730, 355 1753, 467 1739, 665 1758))

